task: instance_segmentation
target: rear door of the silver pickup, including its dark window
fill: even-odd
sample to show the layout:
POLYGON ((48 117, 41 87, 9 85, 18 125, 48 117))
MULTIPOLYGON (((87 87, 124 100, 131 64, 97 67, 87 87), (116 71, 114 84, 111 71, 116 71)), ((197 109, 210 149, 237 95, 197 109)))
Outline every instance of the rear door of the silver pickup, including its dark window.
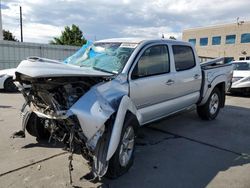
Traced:
POLYGON ((181 109, 198 101, 201 89, 201 69, 199 62, 196 62, 192 47, 172 45, 172 50, 175 64, 175 92, 180 101, 176 108, 181 109))

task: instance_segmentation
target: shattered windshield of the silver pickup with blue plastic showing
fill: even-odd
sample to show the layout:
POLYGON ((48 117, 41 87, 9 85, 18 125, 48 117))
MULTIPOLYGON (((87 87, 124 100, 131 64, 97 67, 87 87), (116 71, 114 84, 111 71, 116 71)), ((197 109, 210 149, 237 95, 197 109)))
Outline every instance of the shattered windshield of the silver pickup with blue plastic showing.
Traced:
POLYGON ((118 74, 122 71, 135 47, 136 44, 130 43, 87 43, 64 62, 118 74))

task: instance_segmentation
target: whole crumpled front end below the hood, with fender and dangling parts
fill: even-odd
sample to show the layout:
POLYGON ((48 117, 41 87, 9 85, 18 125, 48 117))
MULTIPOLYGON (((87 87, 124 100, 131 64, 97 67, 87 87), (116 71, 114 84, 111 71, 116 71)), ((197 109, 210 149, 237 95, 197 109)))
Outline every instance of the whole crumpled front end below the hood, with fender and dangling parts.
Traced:
POLYGON ((120 95, 117 91, 114 91, 115 95, 109 92, 113 86, 112 78, 87 74, 42 77, 40 73, 39 76, 26 75, 20 68, 15 80, 26 100, 23 130, 33 135, 32 126, 39 122, 49 132, 49 141, 63 142, 72 153, 80 152, 94 167, 96 176, 103 176, 108 166, 109 140, 106 139, 105 143, 100 140, 103 140, 107 122, 117 110, 114 101, 123 95, 123 91, 120 95), (24 85, 29 89, 24 89, 24 85), (105 147, 100 144, 105 144, 105 147), (100 152, 100 147, 105 150, 100 152), (105 164, 99 165, 100 162, 105 164))

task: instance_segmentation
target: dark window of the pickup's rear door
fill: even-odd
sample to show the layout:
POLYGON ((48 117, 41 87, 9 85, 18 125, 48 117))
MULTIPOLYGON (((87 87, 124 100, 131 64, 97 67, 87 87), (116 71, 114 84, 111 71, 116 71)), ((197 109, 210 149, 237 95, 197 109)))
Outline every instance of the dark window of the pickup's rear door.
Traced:
POLYGON ((175 70, 183 71, 195 66, 193 49, 190 46, 173 46, 175 70))

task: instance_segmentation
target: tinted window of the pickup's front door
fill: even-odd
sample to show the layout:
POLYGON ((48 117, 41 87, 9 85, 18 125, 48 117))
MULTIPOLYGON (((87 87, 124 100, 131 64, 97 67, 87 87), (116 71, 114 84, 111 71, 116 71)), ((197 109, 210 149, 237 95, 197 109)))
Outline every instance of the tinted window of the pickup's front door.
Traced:
POLYGON ((132 78, 168 73, 170 70, 168 48, 152 46, 144 51, 132 72, 132 78))

